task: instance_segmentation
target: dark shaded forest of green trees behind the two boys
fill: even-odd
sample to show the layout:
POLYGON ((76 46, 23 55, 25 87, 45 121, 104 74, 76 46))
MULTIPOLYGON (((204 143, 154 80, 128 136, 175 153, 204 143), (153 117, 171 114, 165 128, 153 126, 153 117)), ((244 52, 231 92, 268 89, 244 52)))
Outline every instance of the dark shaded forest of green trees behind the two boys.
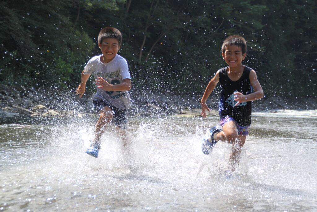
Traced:
POLYGON ((119 54, 133 91, 201 96, 226 66, 223 39, 239 34, 248 44, 243 64, 256 70, 266 95, 317 95, 314 0, 3 0, 0 14, 6 85, 75 90, 100 54, 100 29, 113 26, 123 35, 119 54))

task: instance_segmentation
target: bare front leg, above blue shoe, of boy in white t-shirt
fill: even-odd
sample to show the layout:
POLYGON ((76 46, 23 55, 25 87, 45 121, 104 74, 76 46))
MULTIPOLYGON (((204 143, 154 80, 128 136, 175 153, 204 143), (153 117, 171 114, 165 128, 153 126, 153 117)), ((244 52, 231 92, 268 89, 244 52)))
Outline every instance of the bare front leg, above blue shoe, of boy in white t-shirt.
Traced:
POLYGON ((112 110, 110 107, 106 106, 99 111, 99 114, 100 116, 96 124, 95 137, 93 141, 95 144, 97 144, 97 146, 100 146, 100 139, 102 134, 105 132, 105 127, 112 120, 112 110))

